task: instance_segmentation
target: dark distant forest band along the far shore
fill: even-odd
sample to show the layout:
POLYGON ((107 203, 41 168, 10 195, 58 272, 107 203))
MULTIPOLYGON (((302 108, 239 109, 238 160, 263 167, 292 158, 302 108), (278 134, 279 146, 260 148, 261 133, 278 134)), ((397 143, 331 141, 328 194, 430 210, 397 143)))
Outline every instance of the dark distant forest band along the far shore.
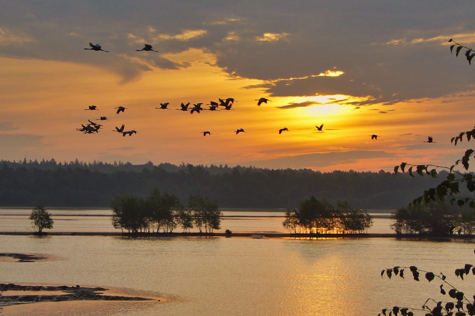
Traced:
POLYGON ((437 186, 438 178, 392 172, 318 172, 170 163, 57 163, 54 159, 0 161, 0 206, 108 207, 114 195, 150 195, 154 188, 208 196, 228 208, 295 208, 299 201, 348 201, 359 209, 396 209, 437 186))

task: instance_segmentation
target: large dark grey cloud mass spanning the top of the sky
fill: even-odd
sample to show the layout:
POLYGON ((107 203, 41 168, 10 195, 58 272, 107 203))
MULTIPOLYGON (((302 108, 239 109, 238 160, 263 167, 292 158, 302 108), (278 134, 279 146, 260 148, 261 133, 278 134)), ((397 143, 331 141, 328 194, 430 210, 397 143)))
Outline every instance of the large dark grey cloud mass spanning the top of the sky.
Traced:
POLYGON ((393 104, 473 89, 473 72, 443 41, 412 41, 473 32, 474 13, 469 1, 445 0, 410 6, 402 0, 275 0, 271 6, 248 0, 4 0, 0 27, 28 40, 0 45, 0 55, 98 65, 127 79, 154 67, 186 67, 161 54, 200 48, 215 54, 216 65, 232 75, 268 81, 307 77, 262 85, 271 96, 344 94, 369 97, 353 105, 393 104), (173 38, 199 29, 206 33, 173 38), (257 40, 265 33, 288 35, 257 40), (90 41, 111 53, 82 50, 90 41), (145 42, 160 53, 134 52, 145 42), (308 77, 331 69, 344 74, 308 77))

